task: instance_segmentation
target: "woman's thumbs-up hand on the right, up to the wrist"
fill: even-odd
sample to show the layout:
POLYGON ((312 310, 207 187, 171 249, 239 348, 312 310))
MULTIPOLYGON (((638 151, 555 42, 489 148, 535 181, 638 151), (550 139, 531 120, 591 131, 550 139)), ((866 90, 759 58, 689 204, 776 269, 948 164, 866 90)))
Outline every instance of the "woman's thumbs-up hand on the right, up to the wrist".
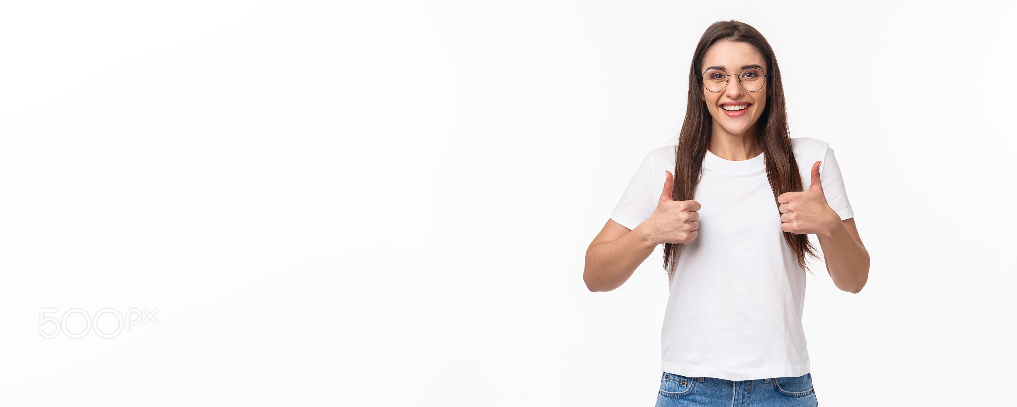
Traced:
POLYGON ((840 222, 830 208, 820 182, 820 163, 813 164, 813 182, 804 191, 788 191, 777 196, 780 204, 780 230, 794 234, 824 233, 840 222))

